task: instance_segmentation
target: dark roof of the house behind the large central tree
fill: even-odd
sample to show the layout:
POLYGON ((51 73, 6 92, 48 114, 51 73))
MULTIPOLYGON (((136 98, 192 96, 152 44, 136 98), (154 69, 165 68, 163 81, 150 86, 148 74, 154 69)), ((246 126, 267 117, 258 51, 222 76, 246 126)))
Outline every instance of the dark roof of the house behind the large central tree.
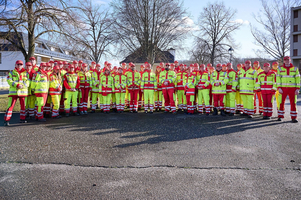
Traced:
MULTIPOLYGON (((144 63, 147 61, 145 54, 143 53, 142 47, 138 48, 132 54, 128 55, 123 61, 125 63, 133 62, 133 63, 144 63)), ((159 48, 157 49, 157 54, 155 57, 154 63, 160 62, 169 62, 173 63, 175 61, 175 57, 168 51, 161 51, 159 48)))

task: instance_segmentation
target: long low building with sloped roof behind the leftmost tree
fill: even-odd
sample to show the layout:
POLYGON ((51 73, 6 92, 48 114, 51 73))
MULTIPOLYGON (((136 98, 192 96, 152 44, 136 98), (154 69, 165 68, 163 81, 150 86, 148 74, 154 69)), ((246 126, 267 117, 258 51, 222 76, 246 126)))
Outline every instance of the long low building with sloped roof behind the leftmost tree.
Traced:
MULTIPOLYGON (((7 32, 0 32, 0 76, 4 76, 8 71, 13 70, 15 67, 16 60, 25 60, 22 52, 11 42, 1 39, 3 35, 8 34, 7 32)), ((11 34, 12 38, 16 38, 15 33, 11 34)), ((25 49, 28 49, 28 36, 25 33, 20 33, 22 35, 22 43, 25 49)), ((16 43, 20 43, 19 40, 15 40, 16 43)), ((48 62, 49 60, 58 61, 68 61, 73 60, 83 60, 86 63, 90 63, 88 56, 83 57, 83 55, 76 53, 70 48, 58 45, 57 43, 38 39, 35 43, 35 53, 34 56, 37 60, 37 64, 41 62, 48 62)))

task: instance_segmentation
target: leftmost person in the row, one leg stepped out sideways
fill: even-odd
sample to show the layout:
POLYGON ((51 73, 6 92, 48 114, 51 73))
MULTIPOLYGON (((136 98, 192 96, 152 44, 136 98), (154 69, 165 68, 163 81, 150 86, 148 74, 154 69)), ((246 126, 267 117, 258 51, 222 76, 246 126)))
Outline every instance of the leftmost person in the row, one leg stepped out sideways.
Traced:
POLYGON ((7 83, 9 84, 8 106, 4 115, 4 126, 9 126, 9 121, 12 117, 13 109, 16 101, 19 99, 20 123, 26 123, 25 120, 25 98, 28 96, 28 87, 30 84, 29 75, 23 68, 23 61, 17 60, 15 69, 8 74, 7 83))

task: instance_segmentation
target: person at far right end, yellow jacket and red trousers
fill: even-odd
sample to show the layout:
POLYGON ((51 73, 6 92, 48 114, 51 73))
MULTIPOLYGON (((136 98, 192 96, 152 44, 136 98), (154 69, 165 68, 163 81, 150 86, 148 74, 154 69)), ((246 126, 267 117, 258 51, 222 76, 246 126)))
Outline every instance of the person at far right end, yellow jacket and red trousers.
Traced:
POLYGON ((284 64, 278 68, 277 72, 277 87, 279 90, 280 108, 278 110, 278 121, 284 118, 285 99, 289 96, 291 104, 291 119, 293 123, 297 123, 297 95, 300 90, 300 73, 299 69, 291 62, 289 56, 283 59, 284 64))

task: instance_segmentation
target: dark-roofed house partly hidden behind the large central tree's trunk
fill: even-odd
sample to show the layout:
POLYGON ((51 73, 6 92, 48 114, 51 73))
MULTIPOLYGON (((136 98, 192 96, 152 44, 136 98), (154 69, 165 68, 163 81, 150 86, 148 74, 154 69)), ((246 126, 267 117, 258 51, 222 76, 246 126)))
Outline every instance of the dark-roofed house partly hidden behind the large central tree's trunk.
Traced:
MULTIPOLYGON (((171 48, 167 51, 161 51, 160 49, 157 49, 157 54, 155 56, 154 64, 152 65, 152 70, 155 71, 156 67, 161 63, 173 63, 175 61, 175 49, 171 48)), ((136 65, 136 69, 140 70, 140 65, 143 65, 147 58, 143 55, 142 48, 137 49, 135 52, 127 56, 121 63, 134 63, 136 65)))

